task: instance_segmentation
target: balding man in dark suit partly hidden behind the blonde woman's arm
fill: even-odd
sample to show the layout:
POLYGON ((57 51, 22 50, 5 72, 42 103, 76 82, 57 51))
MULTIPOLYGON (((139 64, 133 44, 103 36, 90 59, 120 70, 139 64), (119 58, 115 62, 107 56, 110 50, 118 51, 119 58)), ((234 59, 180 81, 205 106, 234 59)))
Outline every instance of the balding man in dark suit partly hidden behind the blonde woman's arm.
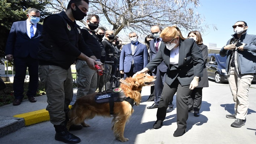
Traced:
MULTIPOLYGON (((160 37, 160 33, 162 30, 163 29, 159 25, 154 25, 153 27, 151 27, 151 34, 154 37, 154 39, 150 41, 150 61, 152 61, 152 59, 155 58, 160 46, 163 46, 162 48, 165 47, 165 44, 161 42, 162 38, 160 37)), ((161 98, 161 93, 164 87, 166 72, 167 72, 167 66, 164 64, 164 62, 161 62, 161 64, 158 65, 157 68, 155 68, 152 71, 152 75, 157 76, 157 80, 155 80, 155 90, 154 90, 155 99, 154 99, 154 104, 152 104, 152 106, 147 107, 147 109, 155 109, 158 107, 158 104, 161 98)), ((171 111, 173 111, 172 102, 173 102, 173 99, 171 100, 171 102, 167 107, 167 110, 166 110, 167 113, 170 113, 171 111)))

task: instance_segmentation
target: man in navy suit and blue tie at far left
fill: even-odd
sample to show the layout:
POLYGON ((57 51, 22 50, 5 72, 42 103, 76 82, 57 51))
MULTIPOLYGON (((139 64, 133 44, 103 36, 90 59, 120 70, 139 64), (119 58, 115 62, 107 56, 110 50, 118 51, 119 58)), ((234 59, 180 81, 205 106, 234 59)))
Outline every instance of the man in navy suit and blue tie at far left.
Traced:
POLYGON ((6 59, 14 62, 15 76, 13 90, 15 100, 13 105, 20 105, 24 97, 24 79, 29 68, 29 89, 27 97, 30 102, 36 102, 35 95, 38 86, 37 47, 43 26, 37 24, 40 12, 36 8, 27 11, 27 20, 14 22, 6 43, 6 59))

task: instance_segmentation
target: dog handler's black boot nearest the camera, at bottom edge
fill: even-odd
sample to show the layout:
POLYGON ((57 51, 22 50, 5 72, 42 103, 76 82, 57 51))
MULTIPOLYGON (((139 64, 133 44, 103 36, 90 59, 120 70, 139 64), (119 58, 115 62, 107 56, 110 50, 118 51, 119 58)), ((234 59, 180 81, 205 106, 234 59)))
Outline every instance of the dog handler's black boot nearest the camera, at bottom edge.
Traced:
POLYGON ((56 132, 55 140, 63 141, 66 144, 77 144, 81 139, 68 131, 56 132))

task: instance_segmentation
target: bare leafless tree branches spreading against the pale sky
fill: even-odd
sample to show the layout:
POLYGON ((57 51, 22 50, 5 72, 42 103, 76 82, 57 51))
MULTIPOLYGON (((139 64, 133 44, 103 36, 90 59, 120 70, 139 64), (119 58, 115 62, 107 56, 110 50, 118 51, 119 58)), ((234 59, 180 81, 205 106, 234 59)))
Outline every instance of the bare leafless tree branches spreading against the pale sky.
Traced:
MULTIPOLYGON (((60 11, 69 0, 52 1, 50 8, 60 11)), ((195 11, 199 6, 199 0, 90 0, 89 13, 98 14, 115 35, 121 30, 148 34, 152 25, 177 25, 181 30, 204 32, 209 25, 202 25, 204 16, 195 11)))

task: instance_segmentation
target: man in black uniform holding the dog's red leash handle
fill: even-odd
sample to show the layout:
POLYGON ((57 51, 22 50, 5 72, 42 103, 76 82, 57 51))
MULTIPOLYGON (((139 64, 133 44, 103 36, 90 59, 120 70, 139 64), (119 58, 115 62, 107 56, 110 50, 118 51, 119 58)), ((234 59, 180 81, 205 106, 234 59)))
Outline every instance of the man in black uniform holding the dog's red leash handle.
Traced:
MULTIPOLYGON (((66 128, 69 104, 73 96, 70 65, 79 58, 86 61, 91 69, 96 70, 95 64, 101 66, 101 62, 95 61, 97 58, 85 44, 80 27, 75 22, 86 16, 88 8, 89 0, 70 0, 65 12, 46 17, 39 44, 38 73, 47 93, 46 110, 55 127, 55 140, 64 143, 76 144, 81 141, 66 128)), ((81 128, 82 126, 77 126, 73 129, 81 128)))

